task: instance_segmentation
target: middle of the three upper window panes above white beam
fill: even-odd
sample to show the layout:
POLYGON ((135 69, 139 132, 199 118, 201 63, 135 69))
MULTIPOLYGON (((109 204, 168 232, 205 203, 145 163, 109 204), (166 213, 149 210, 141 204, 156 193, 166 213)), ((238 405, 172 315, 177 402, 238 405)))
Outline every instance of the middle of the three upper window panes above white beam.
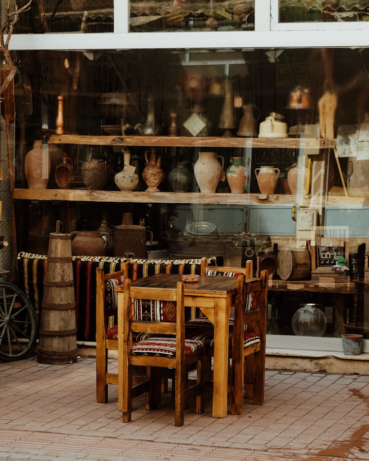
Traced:
POLYGON ((253 31, 254 0, 129 1, 131 32, 253 31))

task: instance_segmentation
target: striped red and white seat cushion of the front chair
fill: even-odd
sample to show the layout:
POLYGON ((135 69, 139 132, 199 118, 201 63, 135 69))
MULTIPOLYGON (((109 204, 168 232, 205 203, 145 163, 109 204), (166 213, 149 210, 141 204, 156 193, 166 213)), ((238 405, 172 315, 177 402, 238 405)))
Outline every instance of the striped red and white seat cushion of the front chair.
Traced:
MULTIPOLYGON (((204 341, 186 339, 184 342, 185 355, 204 347, 204 341)), ((147 355, 151 357, 173 358, 176 356, 176 338, 151 338, 133 344, 130 355, 147 355)))

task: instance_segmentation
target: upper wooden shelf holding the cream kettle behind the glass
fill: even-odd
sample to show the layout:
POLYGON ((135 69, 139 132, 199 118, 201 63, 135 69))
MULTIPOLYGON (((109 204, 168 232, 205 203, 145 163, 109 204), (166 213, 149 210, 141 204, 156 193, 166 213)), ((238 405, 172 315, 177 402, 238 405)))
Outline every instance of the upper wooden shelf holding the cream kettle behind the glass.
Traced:
POLYGON ((160 146, 160 147, 225 147, 225 148, 281 148, 332 149, 336 140, 307 138, 223 138, 218 136, 85 136, 53 134, 50 144, 89 144, 97 146, 160 146))

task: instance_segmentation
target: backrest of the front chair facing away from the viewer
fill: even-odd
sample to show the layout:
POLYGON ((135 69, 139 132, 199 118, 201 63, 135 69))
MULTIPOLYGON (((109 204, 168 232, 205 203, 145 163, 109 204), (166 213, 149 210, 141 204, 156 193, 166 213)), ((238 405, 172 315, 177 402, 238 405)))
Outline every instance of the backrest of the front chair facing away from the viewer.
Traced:
POLYGON ((184 357, 184 283, 177 282, 176 288, 152 290, 135 287, 131 280, 124 280, 123 341, 132 346, 134 334, 176 336, 176 360, 184 357), (149 310, 155 315, 147 315, 149 310), (171 314, 168 312, 171 311, 171 314), (146 320, 147 319, 147 320, 146 320))

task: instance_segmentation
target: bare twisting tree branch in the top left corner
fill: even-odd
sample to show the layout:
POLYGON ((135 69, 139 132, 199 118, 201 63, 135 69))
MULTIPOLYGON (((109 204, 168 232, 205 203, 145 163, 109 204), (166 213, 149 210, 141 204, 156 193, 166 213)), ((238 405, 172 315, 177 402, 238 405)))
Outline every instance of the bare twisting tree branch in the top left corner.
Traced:
POLYGON ((10 67, 10 71, 7 74, 5 80, 1 83, 0 94, 5 91, 9 83, 13 80, 15 73, 17 71, 17 67, 13 63, 11 56, 10 56, 10 52, 9 52, 9 41, 10 41, 11 34, 13 33, 13 30, 14 30, 14 25, 18 21, 19 15, 21 13, 24 13, 30 10, 31 3, 32 3, 32 0, 29 0, 21 8, 18 8, 18 6, 15 5, 15 10, 10 12, 10 0, 6 0, 5 20, 0 27, 0 52, 3 53, 5 62, 10 67), (8 33, 7 33, 6 39, 4 40, 4 33, 6 30, 8 31, 8 33))

